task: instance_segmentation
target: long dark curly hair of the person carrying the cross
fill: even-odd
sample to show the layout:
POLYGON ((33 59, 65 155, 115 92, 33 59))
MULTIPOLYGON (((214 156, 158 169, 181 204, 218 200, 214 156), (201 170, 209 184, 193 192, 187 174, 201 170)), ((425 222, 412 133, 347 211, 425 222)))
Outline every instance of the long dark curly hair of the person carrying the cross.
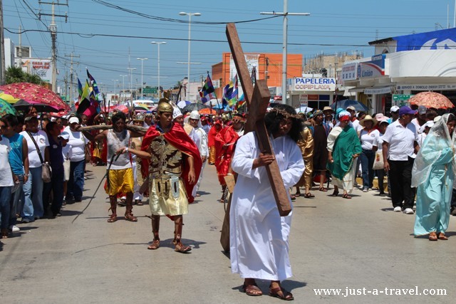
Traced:
POLYGON ((298 115, 296 115, 296 110, 289 105, 276 105, 274 109, 266 113, 264 116, 264 124, 268 133, 274 134, 279 131, 279 124, 281 120, 291 118, 293 121, 291 125, 291 130, 288 132, 289 137, 291 137, 294 142, 299 140, 299 132, 301 132, 302 125, 301 120, 299 120, 298 115))

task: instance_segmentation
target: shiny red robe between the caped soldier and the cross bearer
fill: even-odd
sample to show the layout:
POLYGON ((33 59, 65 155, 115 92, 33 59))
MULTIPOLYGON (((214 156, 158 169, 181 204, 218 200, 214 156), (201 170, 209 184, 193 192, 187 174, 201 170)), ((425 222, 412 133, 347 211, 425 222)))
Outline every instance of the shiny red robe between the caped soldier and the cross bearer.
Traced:
POLYGON ((226 184, 224 177, 230 171, 231 159, 238 139, 239 135, 232 126, 225 127, 215 136, 215 168, 222 186, 226 184))

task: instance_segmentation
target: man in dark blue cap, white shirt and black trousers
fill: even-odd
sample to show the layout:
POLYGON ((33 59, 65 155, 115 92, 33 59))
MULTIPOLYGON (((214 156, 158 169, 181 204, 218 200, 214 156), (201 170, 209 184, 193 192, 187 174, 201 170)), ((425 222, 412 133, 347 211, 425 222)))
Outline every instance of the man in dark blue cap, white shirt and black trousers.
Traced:
POLYGON ((399 119, 393 122, 383 135, 383 159, 389 172, 391 199, 395 212, 413 214, 415 188, 411 187, 412 169, 418 146, 418 133, 411 123, 416 111, 408 106, 399 109, 399 119))

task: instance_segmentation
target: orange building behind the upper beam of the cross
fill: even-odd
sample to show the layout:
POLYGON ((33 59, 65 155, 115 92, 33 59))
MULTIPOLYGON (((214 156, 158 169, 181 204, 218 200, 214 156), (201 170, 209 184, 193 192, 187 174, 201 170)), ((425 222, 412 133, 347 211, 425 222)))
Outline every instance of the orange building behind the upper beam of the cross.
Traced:
MULTIPOLYGON (((282 54, 281 53, 245 53, 250 73, 257 69, 257 79, 266 79, 268 87, 281 87, 282 54), (267 75, 267 77, 266 77, 267 75)), ((288 54, 287 78, 302 76, 302 55, 288 54)), ((231 53, 222 54, 222 62, 212 65, 212 83, 217 97, 222 98, 223 88, 236 75, 236 67, 231 53), (218 85, 216 85, 218 84, 218 85), (218 86, 218 88, 216 88, 218 86)), ((240 85, 240 83, 239 83, 240 85)))

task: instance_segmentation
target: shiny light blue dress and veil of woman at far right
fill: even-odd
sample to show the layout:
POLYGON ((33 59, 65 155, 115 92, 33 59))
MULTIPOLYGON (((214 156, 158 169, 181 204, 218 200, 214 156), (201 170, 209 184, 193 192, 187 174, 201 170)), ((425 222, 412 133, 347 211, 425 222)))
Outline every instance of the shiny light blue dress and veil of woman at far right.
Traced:
POLYGON ((430 164, 429 175, 417 189, 415 236, 423 236, 430 232, 443 232, 450 221, 450 201, 452 184, 455 179, 453 172, 454 153, 448 147, 448 140, 443 137, 426 137, 420 149, 423 162, 430 164))

